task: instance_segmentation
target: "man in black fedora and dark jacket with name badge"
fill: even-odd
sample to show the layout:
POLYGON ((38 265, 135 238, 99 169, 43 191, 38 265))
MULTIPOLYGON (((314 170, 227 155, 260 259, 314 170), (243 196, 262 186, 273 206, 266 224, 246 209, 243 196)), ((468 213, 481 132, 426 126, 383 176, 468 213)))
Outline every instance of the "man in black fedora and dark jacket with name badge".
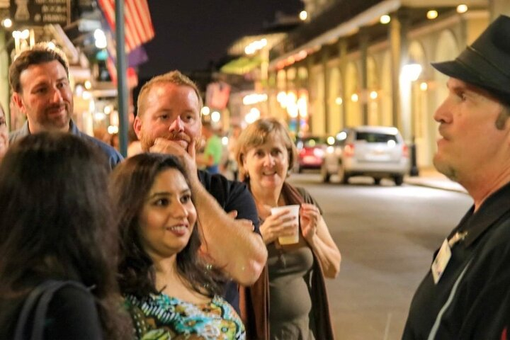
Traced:
POLYGON ((453 61, 434 166, 474 204, 436 251, 402 339, 502 339, 510 295, 510 17, 499 16, 453 61))

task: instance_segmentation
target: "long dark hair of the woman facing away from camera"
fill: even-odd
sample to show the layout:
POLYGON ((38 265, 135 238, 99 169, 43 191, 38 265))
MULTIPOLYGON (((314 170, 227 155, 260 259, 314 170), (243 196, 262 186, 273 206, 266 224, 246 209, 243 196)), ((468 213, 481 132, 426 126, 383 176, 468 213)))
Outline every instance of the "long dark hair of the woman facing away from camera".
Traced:
POLYGON ((117 238, 103 164, 103 154, 69 133, 28 135, 9 147, 0 164, 0 291, 23 294, 34 279, 79 281, 93 287, 103 329, 115 338, 117 238))

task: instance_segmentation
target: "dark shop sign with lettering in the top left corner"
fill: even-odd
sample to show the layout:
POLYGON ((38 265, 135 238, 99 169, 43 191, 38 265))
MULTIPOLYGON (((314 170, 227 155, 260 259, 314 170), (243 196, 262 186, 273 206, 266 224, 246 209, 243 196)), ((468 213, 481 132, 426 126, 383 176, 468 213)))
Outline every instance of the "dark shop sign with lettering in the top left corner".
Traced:
POLYGON ((70 0, 10 0, 11 18, 16 25, 45 26, 71 22, 70 0))

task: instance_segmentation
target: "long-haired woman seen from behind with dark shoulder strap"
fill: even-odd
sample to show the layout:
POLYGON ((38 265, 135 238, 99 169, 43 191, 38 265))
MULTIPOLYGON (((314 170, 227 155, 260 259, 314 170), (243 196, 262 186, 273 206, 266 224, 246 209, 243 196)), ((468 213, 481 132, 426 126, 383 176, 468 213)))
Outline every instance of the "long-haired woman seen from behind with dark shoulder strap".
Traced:
POLYGON ((66 284, 42 319, 31 309, 22 339, 36 325, 44 339, 126 339, 103 158, 60 132, 28 135, 8 149, 0 164, 0 339, 15 338, 28 297, 55 281, 66 284))

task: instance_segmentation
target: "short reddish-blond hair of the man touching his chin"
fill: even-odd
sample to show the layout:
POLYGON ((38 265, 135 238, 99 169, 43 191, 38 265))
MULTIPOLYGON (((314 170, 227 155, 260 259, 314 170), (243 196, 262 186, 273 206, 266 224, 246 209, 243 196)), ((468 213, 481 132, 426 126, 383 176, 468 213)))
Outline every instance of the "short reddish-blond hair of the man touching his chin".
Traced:
POLYGON ((142 86, 142 89, 140 89, 140 94, 138 94, 138 100, 137 100, 137 115, 142 117, 142 115, 147 110, 147 95, 149 92, 154 88, 154 86, 157 85, 164 85, 164 84, 174 84, 176 86, 189 86, 193 91, 195 91, 195 94, 198 98, 198 111, 202 109, 203 101, 202 96, 200 96, 200 90, 198 90, 198 86, 195 84, 195 82, 191 79, 189 79, 186 75, 182 74, 181 72, 174 70, 167 72, 165 74, 161 74, 159 76, 156 76, 147 83, 142 86))

